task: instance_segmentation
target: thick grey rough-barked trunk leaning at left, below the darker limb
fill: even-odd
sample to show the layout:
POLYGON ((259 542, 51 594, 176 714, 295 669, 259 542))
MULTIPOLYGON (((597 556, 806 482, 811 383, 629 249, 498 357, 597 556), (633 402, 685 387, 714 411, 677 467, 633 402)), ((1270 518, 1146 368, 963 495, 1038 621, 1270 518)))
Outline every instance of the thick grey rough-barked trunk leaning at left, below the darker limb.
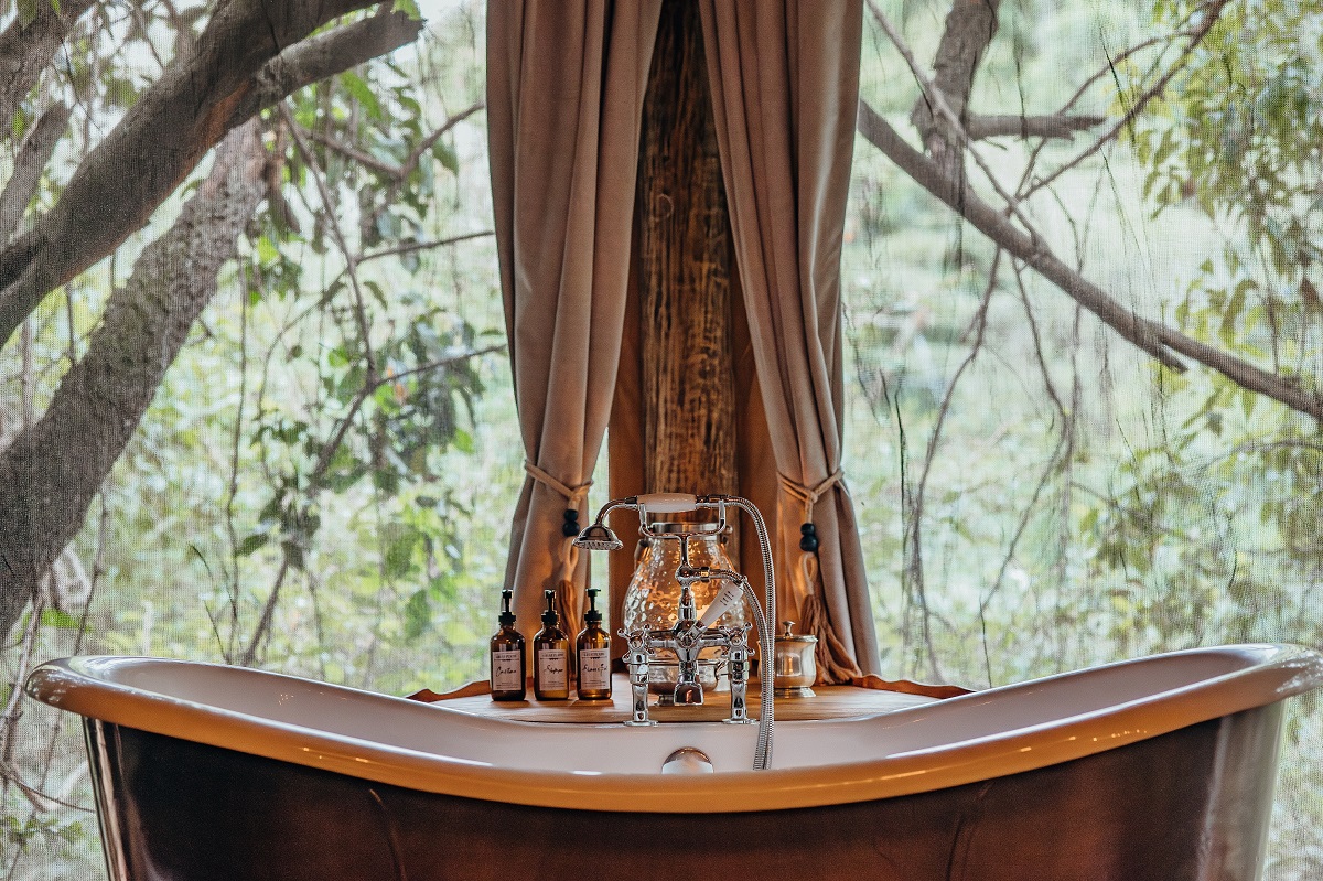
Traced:
POLYGON ((217 151, 201 189, 111 294, 87 355, 0 456, 0 634, 73 540, 165 369, 216 292, 221 266, 265 192, 255 122, 217 151))

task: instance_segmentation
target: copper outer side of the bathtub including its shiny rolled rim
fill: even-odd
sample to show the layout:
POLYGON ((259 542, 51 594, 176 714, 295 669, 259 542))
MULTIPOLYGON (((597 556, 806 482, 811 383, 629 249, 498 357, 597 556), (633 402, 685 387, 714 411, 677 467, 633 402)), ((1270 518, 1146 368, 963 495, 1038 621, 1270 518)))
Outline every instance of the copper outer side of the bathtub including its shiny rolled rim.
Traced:
MULTIPOLYGON (((1163 668, 1154 660, 1117 667, 1132 676, 1163 680, 1163 668)), ((128 714, 78 708, 75 692, 95 664, 83 664, 81 672, 78 663, 44 667, 29 680, 28 691, 85 714, 107 862, 116 881, 1250 881, 1259 874, 1267 833, 1281 700, 1318 685, 1320 665, 1312 652, 1286 647, 1240 647, 1221 660, 1226 663, 1215 664, 1207 680, 1175 688, 1163 681, 1164 691, 1154 700, 1101 700, 1095 701, 1099 710, 1074 712, 1056 722, 1029 720, 1015 733, 960 733, 951 743, 933 749, 916 749, 913 741, 913 732, 934 713, 950 716, 934 725, 951 730, 959 728, 951 720, 963 713, 995 718, 996 701, 1008 691, 1012 700, 1029 700, 1050 693, 1062 680, 1072 685, 1070 676, 1080 677, 1084 689, 1109 680, 1090 680, 1085 671, 1040 680, 1048 685, 1037 691, 1035 684, 1024 684, 943 701, 939 710, 916 708, 881 721, 863 720, 855 729, 844 729, 860 743, 876 738, 904 743, 905 737, 910 742, 894 753, 885 745, 869 747, 873 755, 861 761, 836 755, 810 767, 761 773, 718 769, 701 779, 664 780, 656 773, 554 767, 532 767, 520 775, 519 769, 495 769, 490 761, 460 757, 459 776, 467 782, 437 783, 427 778, 426 765, 401 759, 401 767, 384 770, 388 762, 359 737, 361 725, 352 737, 327 741, 312 732, 300 733, 300 726, 290 722, 274 722, 271 741, 304 743, 302 759, 282 753, 284 746, 254 747, 251 732, 234 738, 245 749, 233 749, 217 742, 224 737, 202 732, 205 725, 196 718, 209 709, 196 700, 169 698, 184 704, 180 712, 193 720, 176 730, 164 730, 171 728, 168 705, 140 705, 128 714), (1258 677, 1261 701, 1244 696, 1240 687, 1248 676, 1258 677), (1203 709, 1195 716, 1208 717, 1177 725, 1180 720, 1162 702, 1168 692, 1176 697, 1167 704, 1197 704, 1203 709), (1230 700, 1232 692, 1238 697, 1230 700), (1226 712, 1218 712, 1218 701, 1228 704, 1226 712), (1093 722, 1098 721, 1094 717, 1107 718, 1106 724, 1084 725, 1081 716, 1093 722), (1060 747, 1053 743, 1090 738, 1091 746, 1058 761, 1060 747), (1106 742, 1099 746, 1109 738, 1114 747, 1106 742), (1046 754, 1046 763, 1033 753, 1046 754), (347 773, 355 763, 365 771, 347 773), (493 774, 491 786, 484 786, 484 771, 493 774), (826 798, 814 794, 815 776, 826 798), (933 786, 934 780, 942 784, 933 786), (770 807, 759 810, 762 804, 770 807)), ((216 671, 210 668, 208 675, 216 671)), ((261 676, 265 684, 279 680, 296 702, 304 680, 261 676)), ((146 691, 143 681, 139 676, 132 688, 146 691)), ((341 691, 349 689, 328 693, 341 691)), ((384 716, 400 710, 406 714, 401 718, 413 718, 430 712, 438 724, 448 721, 433 708, 405 709, 381 696, 370 700, 389 702, 382 704, 384 716)), ((233 709, 221 712, 245 716, 233 709)), ((237 730, 247 724, 232 718, 222 720, 220 728, 237 730)), ((786 732, 790 747, 796 739, 843 742, 835 729, 812 725, 786 732)), ((693 739, 700 726, 692 728, 671 735, 693 739)), ((578 735, 627 743, 617 737, 620 733, 634 734, 589 728, 578 735)), ((520 742, 520 734, 515 730, 511 737, 516 739, 509 742, 520 742)), ((445 733, 437 737, 438 751, 446 751, 445 733)), ((537 737, 537 732, 528 732, 529 743, 537 737)), ((410 742, 400 749, 418 753, 417 747, 410 742)), ((523 765, 536 762, 525 759, 523 765)))

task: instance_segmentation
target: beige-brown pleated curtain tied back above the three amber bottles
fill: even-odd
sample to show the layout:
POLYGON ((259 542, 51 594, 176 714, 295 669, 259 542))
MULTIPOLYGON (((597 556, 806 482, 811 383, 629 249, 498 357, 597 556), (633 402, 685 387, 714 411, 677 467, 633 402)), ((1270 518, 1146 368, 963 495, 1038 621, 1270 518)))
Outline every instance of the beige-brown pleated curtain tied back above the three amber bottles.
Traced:
POLYGON ((639 126, 660 0, 500 0, 487 9, 492 200, 524 442, 505 583, 525 630, 545 589, 579 627, 586 524, 620 352, 639 126), (576 575, 576 573, 578 573, 576 575))

